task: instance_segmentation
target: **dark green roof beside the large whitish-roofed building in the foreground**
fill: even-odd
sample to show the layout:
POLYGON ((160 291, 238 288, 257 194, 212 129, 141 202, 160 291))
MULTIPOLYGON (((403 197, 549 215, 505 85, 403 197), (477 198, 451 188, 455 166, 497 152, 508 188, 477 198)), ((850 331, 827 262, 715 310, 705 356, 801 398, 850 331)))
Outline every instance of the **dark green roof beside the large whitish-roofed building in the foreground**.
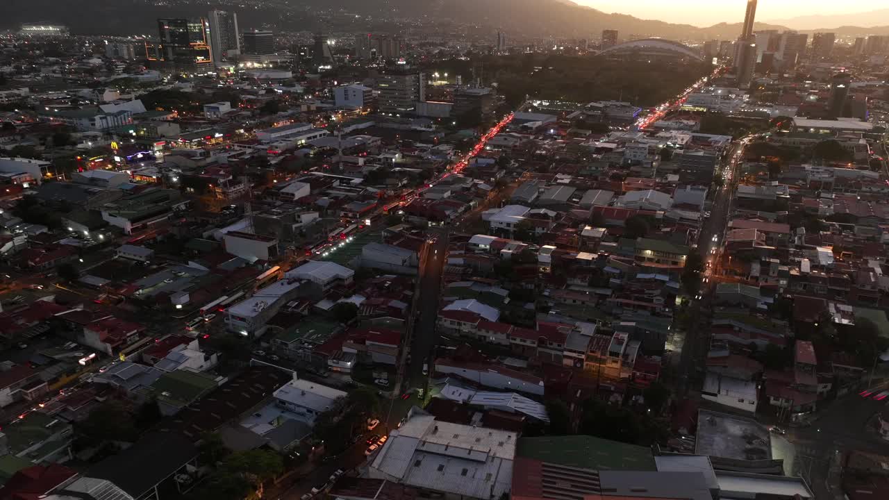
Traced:
POLYGON ((652 450, 593 436, 518 440, 517 456, 596 471, 655 471, 652 450))

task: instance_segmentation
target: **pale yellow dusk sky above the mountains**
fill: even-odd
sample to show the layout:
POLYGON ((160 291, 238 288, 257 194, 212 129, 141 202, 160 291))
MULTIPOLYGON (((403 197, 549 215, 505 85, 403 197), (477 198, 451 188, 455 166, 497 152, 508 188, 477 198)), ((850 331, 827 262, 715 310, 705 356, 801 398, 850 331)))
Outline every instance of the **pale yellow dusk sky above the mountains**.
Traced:
MULTIPOLYGON (((602 12, 618 12, 642 19, 711 26, 718 22, 744 20, 746 0, 574 0, 602 12)), ((884 7, 874 0, 760 0, 757 20, 781 20, 797 16, 869 12, 884 7)))

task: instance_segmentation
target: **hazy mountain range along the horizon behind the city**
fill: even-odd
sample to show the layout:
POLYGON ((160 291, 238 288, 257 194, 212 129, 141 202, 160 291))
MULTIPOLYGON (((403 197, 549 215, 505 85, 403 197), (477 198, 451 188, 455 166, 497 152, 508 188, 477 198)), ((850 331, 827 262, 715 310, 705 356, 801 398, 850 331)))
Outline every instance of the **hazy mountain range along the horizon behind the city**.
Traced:
MULTIPOLYGON (((215 4, 207 0, 3 0, 3 4, 0 29, 15 29, 24 22, 54 22, 68 25, 72 33, 90 35, 154 34, 159 17, 206 15, 212 8, 237 12, 242 27, 270 26, 288 31, 379 30, 380 18, 400 18, 453 22, 475 27, 481 33, 503 29, 525 36, 594 40, 603 29, 617 29, 621 37, 661 36, 677 40, 733 39, 741 32, 740 22, 700 28, 605 13, 569 0, 220 0, 215 4), (348 23, 338 25, 338 20, 347 18, 348 23)), ((756 29, 789 28, 757 23, 756 29)), ((889 35, 889 26, 829 30, 840 36, 889 35)))

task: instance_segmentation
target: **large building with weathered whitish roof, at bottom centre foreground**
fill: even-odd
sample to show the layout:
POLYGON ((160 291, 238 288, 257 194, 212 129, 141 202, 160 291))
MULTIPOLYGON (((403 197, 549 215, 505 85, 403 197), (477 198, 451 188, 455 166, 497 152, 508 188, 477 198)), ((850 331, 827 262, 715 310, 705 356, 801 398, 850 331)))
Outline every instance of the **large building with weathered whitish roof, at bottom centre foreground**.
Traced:
POLYGON ((500 498, 512 484, 516 441, 516 432, 438 421, 414 409, 372 457, 368 476, 445 498, 500 498))

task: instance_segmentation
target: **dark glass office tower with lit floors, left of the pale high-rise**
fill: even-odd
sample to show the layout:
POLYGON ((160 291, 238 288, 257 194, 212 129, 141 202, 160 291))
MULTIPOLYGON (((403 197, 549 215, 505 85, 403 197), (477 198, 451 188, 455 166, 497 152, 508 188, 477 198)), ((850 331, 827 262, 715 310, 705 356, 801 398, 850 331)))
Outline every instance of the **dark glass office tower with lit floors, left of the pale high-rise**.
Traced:
POLYGON ((212 64, 210 26, 204 18, 159 19, 157 31, 157 59, 188 67, 212 64))

